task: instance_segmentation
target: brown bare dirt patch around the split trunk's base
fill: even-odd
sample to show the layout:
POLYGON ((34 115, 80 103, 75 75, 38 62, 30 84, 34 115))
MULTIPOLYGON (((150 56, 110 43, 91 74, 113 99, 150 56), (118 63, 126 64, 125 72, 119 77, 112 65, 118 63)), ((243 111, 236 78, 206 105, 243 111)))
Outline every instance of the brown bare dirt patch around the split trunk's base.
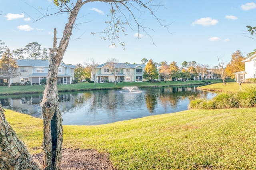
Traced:
MULTIPOLYGON (((33 157, 43 164, 43 153, 33 157)), ((108 158, 108 154, 102 154, 96 150, 62 150, 62 170, 115 170, 108 158)))

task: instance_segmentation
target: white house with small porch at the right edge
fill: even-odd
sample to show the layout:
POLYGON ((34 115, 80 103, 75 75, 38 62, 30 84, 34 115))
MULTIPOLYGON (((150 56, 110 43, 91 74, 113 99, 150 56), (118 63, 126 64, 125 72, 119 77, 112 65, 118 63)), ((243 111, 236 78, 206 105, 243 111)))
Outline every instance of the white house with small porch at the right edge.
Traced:
POLYGON ((244 63, 244 71, 234 73, 236 75, 236 82, 246 82, 246 79, 256 78, 256 54, 242 60, 244 63))

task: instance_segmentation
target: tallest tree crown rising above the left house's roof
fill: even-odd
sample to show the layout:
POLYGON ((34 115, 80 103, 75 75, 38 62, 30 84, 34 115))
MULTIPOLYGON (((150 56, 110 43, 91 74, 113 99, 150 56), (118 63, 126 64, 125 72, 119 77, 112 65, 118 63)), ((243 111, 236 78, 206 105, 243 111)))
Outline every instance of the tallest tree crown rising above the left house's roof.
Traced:
POLYGON ((41 45, 37 42, 28 43, 25 46, 25 51, 30 59, 40 59, 41 45))

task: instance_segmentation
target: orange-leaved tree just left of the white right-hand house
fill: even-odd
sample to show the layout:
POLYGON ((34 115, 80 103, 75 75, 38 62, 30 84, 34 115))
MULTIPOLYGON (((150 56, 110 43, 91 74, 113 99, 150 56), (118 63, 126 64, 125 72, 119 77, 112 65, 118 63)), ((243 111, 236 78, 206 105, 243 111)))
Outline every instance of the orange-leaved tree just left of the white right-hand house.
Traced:
POLYGON ((230 78, 234 79, 236 77, 234 73, 244 70, 244 63, 241 62, 244 59, 245 57, 242 55, 240 50, 237 50, 236 52, 232 53, 231 60, 226 65, 226 69, 225 69, 227 75, 230 78))

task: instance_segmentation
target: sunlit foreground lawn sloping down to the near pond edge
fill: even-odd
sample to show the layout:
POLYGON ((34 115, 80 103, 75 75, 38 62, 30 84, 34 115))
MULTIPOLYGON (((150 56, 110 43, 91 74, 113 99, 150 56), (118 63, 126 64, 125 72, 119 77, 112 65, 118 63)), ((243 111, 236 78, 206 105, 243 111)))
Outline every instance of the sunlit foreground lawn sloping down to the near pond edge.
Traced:
MULTIPOLYGON (((42 120, 6 110, 31 153, 42 120)), ((256 108, 189 110, 97 126, 64 126, 64 148, 110 154, 118 169, 255 169, 256 108)))

